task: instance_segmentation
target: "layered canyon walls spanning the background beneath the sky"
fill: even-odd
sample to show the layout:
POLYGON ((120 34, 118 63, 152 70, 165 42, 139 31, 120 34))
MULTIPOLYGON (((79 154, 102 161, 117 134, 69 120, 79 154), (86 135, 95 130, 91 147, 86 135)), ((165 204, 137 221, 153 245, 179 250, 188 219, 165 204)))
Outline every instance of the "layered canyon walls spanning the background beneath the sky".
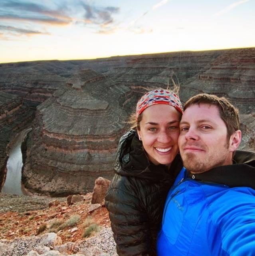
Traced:
POLYGON ((93 190, 113 177, 119 138, 144 92, 180 82, 180 99, 201 92, 239 108, 242 143, 255 150, 255 48, 0 64, 0 187, 14 138, 22 143, 22 183, 50 196, 93 190))

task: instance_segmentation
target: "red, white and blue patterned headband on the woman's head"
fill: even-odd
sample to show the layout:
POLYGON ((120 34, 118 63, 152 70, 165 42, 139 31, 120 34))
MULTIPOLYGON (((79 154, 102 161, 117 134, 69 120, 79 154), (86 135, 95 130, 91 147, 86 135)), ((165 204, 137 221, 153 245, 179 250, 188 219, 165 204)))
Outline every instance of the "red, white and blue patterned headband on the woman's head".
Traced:
POLYGON ((169 92, 167 90, 158 89, 153 90, 150 92, 147 92, 140 98, 140 100, 136 104, 136 121, 138 116, 149 106, 152 106, 154 104, 167 104, 170 106, 173 106, 178 110, 180 113, 183 113, 182 110, 182 103, 180 102, 179 97, 173 93, 169 92))

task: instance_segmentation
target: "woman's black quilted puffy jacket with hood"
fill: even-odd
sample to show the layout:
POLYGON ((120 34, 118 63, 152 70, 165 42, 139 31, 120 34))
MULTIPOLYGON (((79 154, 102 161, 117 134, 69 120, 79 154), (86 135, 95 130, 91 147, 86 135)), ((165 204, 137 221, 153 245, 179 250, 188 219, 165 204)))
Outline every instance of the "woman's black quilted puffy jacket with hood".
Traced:
POLYGON ((134 130, 121 138, 116 174, 105 197, 119 255, 156 255, 166 195, 181 168, 179 154, 170 171, 150 163, 134 130))

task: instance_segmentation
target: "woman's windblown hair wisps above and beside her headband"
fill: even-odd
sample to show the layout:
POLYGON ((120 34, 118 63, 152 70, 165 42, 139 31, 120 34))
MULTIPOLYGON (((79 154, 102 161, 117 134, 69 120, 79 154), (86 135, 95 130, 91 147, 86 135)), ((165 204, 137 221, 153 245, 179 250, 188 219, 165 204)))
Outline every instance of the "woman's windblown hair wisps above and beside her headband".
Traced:
MULTIPOLYGON (((171 78, 172 79, 172 78, 171 78)), ((148 87, 148 88, 144 88, 144 87, 139 87, 139 88, 142 88, 144 89, 146 92, 142 95, 142 97, 150 92, 150 91, 153 91, 153 90, 168 90, 169 92, 172 92, 174 94, 176 94, 179 98, 179 89, 180 89, 180 86, 179 85, 176 85, 176 83, 174 82, 174 80, 172 79, 172 86, 169 86, 169 84, 166 86, 166 88, 162 88, 162 87, 148 87)), ((141 98, 142 98, 141 97, 141 98)), ((140 98, 140 99, 141 99, 140 98)), ((140 101, 140 100, 139 100, 140 101)), ((138 101, 138 102, 139 102, 138 101)), ((129 118, 128 118, 128 121, 127 123, 130 124, 130 129, 133 129, 133 130, 140 130, 140 122, 142 121, 142 113, 139 114, 137 116, 136 114, 136 110, 134 110, 129 118)))

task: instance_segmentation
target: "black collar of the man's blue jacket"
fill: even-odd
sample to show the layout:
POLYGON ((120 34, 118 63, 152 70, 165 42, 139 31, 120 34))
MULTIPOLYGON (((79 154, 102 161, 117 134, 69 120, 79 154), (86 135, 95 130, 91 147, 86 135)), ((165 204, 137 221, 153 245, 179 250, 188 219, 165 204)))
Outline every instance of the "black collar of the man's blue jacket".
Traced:
POLYGON ((194 180, 224 184, 229 187, 251 187, 255 189, 255 153, 237 150, 234 164, 212 168, 200 174, 188 173, 194 180))

